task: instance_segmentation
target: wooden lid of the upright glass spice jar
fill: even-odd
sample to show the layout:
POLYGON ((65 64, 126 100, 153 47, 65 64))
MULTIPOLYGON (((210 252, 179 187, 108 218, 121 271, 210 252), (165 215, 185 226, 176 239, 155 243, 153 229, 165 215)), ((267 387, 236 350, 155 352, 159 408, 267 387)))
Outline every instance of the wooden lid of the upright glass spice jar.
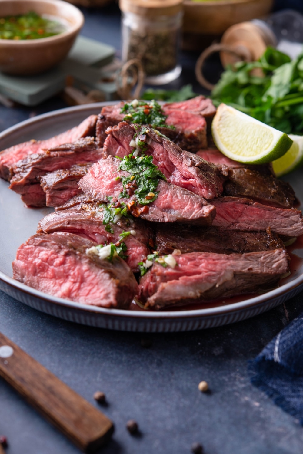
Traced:
POLYGON ((172 16, 182 11, 183 0, 119 0, 119 7, 140 16, 172 16))

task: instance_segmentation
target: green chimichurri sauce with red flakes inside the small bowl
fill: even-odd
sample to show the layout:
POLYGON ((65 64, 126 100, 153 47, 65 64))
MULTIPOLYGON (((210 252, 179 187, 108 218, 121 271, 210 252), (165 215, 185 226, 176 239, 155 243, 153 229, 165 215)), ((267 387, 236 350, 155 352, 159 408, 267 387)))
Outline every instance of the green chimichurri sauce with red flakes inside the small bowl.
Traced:
POLYGON ((35 11, 0 17, 0 39, 39 39, 58 35, 66 30, 55 20, 45 19, 35 11))

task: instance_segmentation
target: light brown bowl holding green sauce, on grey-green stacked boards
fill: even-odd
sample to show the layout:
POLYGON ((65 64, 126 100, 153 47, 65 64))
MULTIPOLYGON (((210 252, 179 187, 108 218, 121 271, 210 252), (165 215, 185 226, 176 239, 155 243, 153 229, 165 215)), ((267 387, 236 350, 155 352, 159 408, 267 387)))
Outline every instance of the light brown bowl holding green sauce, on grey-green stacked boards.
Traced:
POLYGON ((58 18, 67 30, 48 38, 0 39, 0 71, 6 74, 39 74, 59 64, 69 53, 84 24, 78 8, 61 0, 0 0, 0 17, 35 11, 58 18))

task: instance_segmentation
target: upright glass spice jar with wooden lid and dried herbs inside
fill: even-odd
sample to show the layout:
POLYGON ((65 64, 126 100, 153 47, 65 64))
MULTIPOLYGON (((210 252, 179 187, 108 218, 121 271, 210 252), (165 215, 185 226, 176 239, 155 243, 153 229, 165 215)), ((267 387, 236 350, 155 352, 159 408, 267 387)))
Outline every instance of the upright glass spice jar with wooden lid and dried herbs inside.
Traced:
POLYGON ((122 60, 139 59, 151 85, 181 74, 178 62, 183 0, 119 0, 122 60))

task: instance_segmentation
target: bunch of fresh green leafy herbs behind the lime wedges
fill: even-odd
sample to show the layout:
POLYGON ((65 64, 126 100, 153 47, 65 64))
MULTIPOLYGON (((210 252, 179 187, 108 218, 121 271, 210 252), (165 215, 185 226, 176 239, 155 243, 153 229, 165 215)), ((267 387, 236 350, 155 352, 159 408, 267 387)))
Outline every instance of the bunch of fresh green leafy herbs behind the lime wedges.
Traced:
POLYGON ((229 104, 285 133, 303 133, 303 54, 291 60, 268 47, 256 62, 228 67, 212 91, 229 104))

